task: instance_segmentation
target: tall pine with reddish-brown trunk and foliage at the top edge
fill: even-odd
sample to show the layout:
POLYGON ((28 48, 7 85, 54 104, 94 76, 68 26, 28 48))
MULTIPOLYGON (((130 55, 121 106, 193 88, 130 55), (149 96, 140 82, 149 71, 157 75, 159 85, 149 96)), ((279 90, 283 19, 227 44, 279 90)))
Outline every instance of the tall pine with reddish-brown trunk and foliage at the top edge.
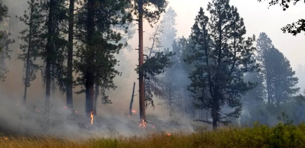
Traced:
MULTIPOLYGON (((139 65, 141 68, 144 63, 144 46, 143 46, 143 18, 150 24, 159 20, 160 15, 165 11, 168 4, 166 0, 134 0, 134 12, 137 14, 138 31, 139 31, 139 65), (154 8, 154 9, 151 9, 154 8)), ((145 113, 145 90, 144 90, 144 74, 139 71, 139 107, 140 119, 146 121, 145 113)))

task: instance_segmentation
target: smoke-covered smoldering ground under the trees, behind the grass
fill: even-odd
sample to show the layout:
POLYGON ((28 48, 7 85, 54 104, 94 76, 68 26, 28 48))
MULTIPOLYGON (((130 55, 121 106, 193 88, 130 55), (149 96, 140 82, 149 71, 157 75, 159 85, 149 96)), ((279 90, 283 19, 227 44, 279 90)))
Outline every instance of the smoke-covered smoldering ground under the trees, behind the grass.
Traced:
POLYGON ((47 112, 43 106, 24 106, 20 101, 5 97, 0 97, 0 104, 0 129, 6 135, 116 137, 162 132, 191 133, 196 126, 199 126, 199 123, 178 115, 169 118, 148 114, 147 123, 140 126, 142 121, 139 120, 136 112, 131 116, 126 113, 107 113, 87 118, 80 113, 82 111, 70 111, 66 107, 56 105, 47 112))

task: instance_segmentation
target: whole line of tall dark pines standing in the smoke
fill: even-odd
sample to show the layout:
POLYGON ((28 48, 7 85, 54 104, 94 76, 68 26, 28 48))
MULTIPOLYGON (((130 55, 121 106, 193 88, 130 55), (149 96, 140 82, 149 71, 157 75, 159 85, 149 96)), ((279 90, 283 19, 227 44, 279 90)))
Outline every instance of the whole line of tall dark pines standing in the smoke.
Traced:
MULTIPOLYGON (((133 33, 135 21, 141 120, 147 121, 145 110, 159 98, 171 117, 183 114, 212 124, 215 130, 247 120, 268 124, 266 120, 278 111, 301 121, 305 97, 296 95, 300 88, 289 60, 265 33, 257 40, 245 37, 244 20, 229 2, 212 0, 207 10, 201 7, 189 37, 176 37, 177 14, 172 7, 166 11, 166 0, 28 0, 27 11, 17 17, 26 25, 18 56, 24 62, 23 103, 41 70, 47 113, 51 91, 57 88, 66 95, 72 113, 73 93, 85 93, 86 116, 95 115, 98 97, 111 103, 106 90, 115 89, 113 79, 122 74, 116 69, 116 55, 128 46, 124 36, 133 33), (144 19, 154 28, 145 50, 144 19), (81 90, 74 92, 75 86, 81 90)), ((288 8, 288 3, 281 5, 288 8)), ((7 17, 7 7, 0 1, 0 21, 7 17)), ((11 43, 9 33, 0 31, 1 79, 11 43)))

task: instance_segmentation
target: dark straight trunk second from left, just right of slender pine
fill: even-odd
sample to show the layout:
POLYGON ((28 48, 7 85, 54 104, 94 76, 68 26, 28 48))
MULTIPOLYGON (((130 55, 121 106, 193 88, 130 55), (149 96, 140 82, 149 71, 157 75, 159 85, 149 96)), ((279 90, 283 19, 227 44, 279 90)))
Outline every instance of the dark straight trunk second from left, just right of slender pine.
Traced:
POLYGON ((51 56, 52 56, 52 24, 55 1, 49 1, 49 14, 47 20, 47 43, 46 43, 46 59, 45 59, 45 109, 48 112, 50 107, 50 89, 51 89, 51 56))

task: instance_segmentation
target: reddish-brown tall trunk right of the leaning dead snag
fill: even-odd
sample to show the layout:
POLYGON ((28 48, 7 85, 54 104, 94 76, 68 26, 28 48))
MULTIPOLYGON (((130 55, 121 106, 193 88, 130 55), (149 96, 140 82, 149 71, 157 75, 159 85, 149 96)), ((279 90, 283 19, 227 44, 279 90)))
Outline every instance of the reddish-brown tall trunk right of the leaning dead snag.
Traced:
MULTIPOLYGON (((139 68, 142 67, 144 63, 143 57, 143 1, 138 0, 138 12, 139 12, 139 68)), ((144 95, 144 74, 143 71, 139 71, 139 106, 140 106, 140 119, 146 121, 145 113, 145 95, 144 95)))

